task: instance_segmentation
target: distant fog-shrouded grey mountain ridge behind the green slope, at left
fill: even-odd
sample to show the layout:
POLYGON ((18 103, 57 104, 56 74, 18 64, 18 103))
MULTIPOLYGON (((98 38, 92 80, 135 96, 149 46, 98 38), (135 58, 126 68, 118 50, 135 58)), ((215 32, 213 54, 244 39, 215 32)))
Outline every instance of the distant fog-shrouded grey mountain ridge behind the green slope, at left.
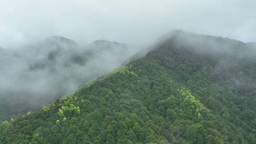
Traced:
POLYGON ((6 49, 0 57, 0 121, 38 110, 120 67, 137 52, 136 46, 124 45, 107 41, 79 45, 52 36, 19 49, 6 49))

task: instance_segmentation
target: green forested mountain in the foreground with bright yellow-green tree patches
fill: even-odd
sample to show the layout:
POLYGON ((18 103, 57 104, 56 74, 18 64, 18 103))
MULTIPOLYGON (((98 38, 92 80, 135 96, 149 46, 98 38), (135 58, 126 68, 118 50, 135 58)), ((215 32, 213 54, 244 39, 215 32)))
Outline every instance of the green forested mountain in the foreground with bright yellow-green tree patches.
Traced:
POLYGON ((36 112, 3 144, 256 144, 255 47, 175 30, 36 112))

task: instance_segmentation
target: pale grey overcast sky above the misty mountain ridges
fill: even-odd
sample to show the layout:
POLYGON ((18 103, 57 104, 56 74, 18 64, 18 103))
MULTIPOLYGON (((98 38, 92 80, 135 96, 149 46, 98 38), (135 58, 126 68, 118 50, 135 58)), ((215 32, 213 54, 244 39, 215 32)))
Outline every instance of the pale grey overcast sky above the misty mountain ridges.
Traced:
POLYGON ((0 0, 0 47, 48 36, 153 43, 172 29, 256 41, 256 0, 0 0))

